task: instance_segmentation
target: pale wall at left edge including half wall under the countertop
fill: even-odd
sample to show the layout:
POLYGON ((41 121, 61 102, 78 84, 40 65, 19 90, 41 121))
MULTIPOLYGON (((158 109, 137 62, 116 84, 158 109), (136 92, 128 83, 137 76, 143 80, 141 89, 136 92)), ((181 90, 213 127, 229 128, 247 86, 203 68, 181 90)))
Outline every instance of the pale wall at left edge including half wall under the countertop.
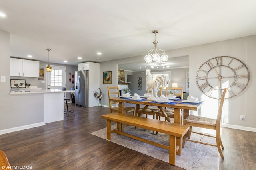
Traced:
POLYGON ((0 131, 44 122, 43 94, 10 96, 10 33, 0 31, 0 37, 0 76, 6 77, 6 82, 0 82, 0 131))

